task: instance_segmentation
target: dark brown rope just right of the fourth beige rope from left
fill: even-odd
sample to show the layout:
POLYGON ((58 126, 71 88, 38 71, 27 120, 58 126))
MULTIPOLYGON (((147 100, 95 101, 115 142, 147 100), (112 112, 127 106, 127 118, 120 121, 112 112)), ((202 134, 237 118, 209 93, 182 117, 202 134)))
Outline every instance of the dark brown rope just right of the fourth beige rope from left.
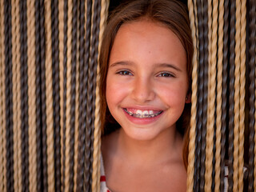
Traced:
POLYGON ((60 145, 60 87, 58 50, 58 0, 51 2, 52 63, 53 63, 53 110, 54 110, 54 179, 55 190, 61 191, 61 145, 60 145))

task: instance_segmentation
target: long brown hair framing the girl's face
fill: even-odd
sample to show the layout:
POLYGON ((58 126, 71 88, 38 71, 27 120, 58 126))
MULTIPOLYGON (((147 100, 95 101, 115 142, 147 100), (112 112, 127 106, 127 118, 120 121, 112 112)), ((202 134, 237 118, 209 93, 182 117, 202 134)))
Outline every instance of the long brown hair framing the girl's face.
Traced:
MULTIPOLYGON (((140 18, 147 18, 152 22, 159 22, 172 30, 182 42, 186 50, 187 74, 189 79, 189 90, 191 91, 191 70, 193 57, 193 42, 190 31, 190 20, 186 6, 182 2, 174 0, 135 0, 118 6, 110 14, 107 26, 102 38, 102 47, 99 57, 100 65, 100 98, 101 98, 101 120, 102 132, 110 133, 120 126, 114 120, 106 104, 106 75, 110 51, 114 44, 114 38, 120 26, 125 22, 134 22, 140 18)), ((184 136, 183 160, 187 166, 187 146, 190 127, 190 104, 186 104, 182 116, 178 119, 176 127, 178 132, 184 136)))

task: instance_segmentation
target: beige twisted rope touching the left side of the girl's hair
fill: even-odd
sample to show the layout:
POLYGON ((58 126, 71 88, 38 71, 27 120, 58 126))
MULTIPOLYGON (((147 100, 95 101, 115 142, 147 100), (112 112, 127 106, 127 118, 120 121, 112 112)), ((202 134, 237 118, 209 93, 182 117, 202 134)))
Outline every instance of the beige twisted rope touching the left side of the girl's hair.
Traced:
MULTIPOLYGON (((98 53, 102 46, 102 35, 106 26, 106 18, 108 14, 109 0, 102 0, 101 6, 101 22, 99 30, 98 53)), ((97 67, 97 86, 95 99, 95 121, 94 121, 94 162, 92 175, 92 191, 100 190, 100 155, 101 155, 101 122, 100 122, 100 98, 99 98, 99 65, 97 67)))

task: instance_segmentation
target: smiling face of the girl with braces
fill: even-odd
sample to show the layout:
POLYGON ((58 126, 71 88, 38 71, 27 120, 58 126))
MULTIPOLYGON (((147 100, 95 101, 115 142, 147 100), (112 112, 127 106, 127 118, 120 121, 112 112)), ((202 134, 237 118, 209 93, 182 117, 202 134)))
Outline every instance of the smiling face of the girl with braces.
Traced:
POLYGON ((188 90, 186 51, 179 38, 146 19, 123 24, 110 51, 106 102, 130 137, 150 140, 175 130, 188 90))

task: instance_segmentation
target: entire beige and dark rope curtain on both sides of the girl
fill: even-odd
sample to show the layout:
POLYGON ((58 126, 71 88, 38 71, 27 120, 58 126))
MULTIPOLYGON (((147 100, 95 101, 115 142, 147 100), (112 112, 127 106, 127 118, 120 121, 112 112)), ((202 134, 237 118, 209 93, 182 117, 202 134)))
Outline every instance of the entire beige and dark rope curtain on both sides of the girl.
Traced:
MULTIPOLYGON (((187 2, 187 191, 225 191, 225 179, 228 191, 254 191, 256 2, 187 2)), ((109 3, 0 0, 0 191, 100 191, 98 53, 109 3)))

